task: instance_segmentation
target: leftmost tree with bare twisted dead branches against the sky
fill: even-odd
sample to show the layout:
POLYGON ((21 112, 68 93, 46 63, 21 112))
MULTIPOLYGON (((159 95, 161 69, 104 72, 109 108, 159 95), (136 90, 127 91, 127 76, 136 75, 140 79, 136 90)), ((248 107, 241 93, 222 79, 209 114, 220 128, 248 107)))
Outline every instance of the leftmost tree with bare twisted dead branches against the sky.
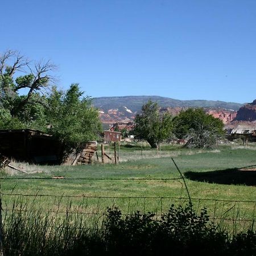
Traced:
POLYGON ((55 68, 49 60, 33 63, 19 52, 3 52, 0 55, 0 108, 8 110, 13 118, 19 118, 25 111, 23 124, 30 125, 38 115, 36 109, 42 113, 39 105, 45 104, 42 96, 54 80, 55 68), (28 116, 30 112, 32 116, 28 116))

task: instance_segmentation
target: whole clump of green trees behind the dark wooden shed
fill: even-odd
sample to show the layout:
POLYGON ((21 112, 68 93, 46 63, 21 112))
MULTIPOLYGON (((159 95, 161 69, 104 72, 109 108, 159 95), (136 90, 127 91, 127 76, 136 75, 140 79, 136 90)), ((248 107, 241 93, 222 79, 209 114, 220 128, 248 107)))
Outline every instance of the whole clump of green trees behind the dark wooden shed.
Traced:
POLYGON ((78 84, 53 86, 56 66, 32 62, 16 51, 0 54, 0 129, 37 129, 77 147, 101 131, 98 111, 78 84))

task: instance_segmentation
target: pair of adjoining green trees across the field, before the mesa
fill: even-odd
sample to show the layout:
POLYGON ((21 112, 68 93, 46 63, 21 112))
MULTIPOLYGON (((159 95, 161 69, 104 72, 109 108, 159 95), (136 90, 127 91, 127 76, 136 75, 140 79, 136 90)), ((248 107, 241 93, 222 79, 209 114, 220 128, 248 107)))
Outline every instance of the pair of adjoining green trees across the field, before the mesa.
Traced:
POLYGON ((188 109, 172 118, 160 113, 156 102, 148 101, 142 113, 135 117, 133 133, 136 139, 147 141, 152 148, 171 138, 185 139, 185 146, 210 148, 224 135, 224 124, 205 114, 203 109, 188 109))

